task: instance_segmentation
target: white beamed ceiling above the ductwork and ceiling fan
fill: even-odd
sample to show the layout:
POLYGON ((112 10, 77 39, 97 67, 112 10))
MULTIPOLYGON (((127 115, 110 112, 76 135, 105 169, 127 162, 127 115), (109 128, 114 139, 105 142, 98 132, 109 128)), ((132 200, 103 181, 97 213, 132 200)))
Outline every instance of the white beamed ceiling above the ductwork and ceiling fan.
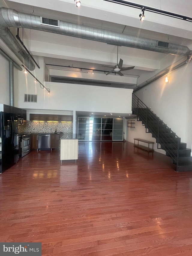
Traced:
MULTIPOLYGON (((132 2, 143 4, 141 0, 132 0, 132 2)), ((182 44, 192 49, 192 23, 190 22, 151 12, 145 12, 146 19, 141 22, 139 9, 103 0, 81 0, 81 4, 80 8, 76 8, 74 0, 0 0, 0 7, 107 29, 125 35, 182 44)), ((146 0, 145 5, 191 16, 192 2, 188 0, 177 0, 177 4, 175 0, 146 0)), ((16 35, 16 29, 10 29, 14 32, 13 35, 16 35)), ((104 71, 110 71, 110 68, 103 65, 117 64, 117 46, 29 29, 19 29, 19 36, 23 38, 25 45, 34 56, 45 57, 46 67, 50 68, 52 77, 104 81, 117 87, 130 89, 134 89, 135 86, 181 59, 181 57, 163 53, 119 47, 118 59, 123 59, 123 67, 135 66, 135 68, 124 71, 123 77, 113 73, 106 76, 104 71), (70 71, 63 71, 63 69, 70 71), (87 73, 76 72, 80 69, 87 73), (95 71, 92 75, 92 69, 99 71, 95 71)), ((10 53, 1 40, 0 47, 10 53)), ((20 63, 18 59, 16 60, 20 63)))

